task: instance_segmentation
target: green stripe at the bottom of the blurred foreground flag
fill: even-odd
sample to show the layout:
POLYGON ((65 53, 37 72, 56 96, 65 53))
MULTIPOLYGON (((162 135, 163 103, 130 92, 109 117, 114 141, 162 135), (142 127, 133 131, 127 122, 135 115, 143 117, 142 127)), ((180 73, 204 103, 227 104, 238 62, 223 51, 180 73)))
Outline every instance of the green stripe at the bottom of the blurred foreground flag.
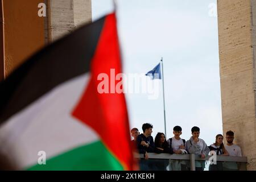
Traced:
POLYGON ((123 170, 123 167, 104 144, 97 141, 46 159, 46 164, 36 164, 27 170, 123 170))

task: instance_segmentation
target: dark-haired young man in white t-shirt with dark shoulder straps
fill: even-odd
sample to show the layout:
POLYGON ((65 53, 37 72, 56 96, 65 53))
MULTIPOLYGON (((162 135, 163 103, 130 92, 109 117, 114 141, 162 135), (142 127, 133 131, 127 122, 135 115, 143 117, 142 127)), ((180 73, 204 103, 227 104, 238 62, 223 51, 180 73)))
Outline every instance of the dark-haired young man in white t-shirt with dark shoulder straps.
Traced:
MULTIPOLYGON (((174 137, 167 140, 170 148, 174 151, 174 154, 188 154, 185 150, 185 140, 180 138, 182 129, 180 126, 175 126, 173 131, 174 137)), ((170 171, 187 171, 187 164, 182 160, 170 160, 170 171)))

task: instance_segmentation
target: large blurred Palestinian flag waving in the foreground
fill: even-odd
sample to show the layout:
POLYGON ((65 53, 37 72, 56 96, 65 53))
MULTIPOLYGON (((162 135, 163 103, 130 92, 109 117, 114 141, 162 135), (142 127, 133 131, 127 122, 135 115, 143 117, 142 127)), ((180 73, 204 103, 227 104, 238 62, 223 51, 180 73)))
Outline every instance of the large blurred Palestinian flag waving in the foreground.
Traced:
POLYGON ((125 96, 99 93, 100 73, 120 84, 113 81, 121 73, 115 14, 44 48, 2 81, 6 161, 28 170, 133 169, 125 96), (38 163, 40 151, 46 164, 38 163))

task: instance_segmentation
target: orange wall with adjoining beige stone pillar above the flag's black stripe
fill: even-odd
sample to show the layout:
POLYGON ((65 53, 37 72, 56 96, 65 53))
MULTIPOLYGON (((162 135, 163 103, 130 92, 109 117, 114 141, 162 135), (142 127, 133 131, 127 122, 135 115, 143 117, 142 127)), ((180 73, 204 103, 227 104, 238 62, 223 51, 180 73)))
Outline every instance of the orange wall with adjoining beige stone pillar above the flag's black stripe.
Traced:
MULTIPOLYGON (((5 77, 47 43, 92 22, 91 0, 3 0, 5 77), (38 16, 39 3, 47 16, 38 16)), ((2 71, 2 70, 1 70, 2 71)))

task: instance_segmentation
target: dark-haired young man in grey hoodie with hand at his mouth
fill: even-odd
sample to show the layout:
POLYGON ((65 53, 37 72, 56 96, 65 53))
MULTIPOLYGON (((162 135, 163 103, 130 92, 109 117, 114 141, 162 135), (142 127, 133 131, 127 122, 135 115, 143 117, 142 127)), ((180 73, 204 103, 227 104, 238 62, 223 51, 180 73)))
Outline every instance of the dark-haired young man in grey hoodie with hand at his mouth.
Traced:
MULTIPOLYGON (((191 129, 192 137, 185 143, 186 150, 189 154, 200 155, 204 159, 210 152, 207 144, 203 139, 199 138, 200 129, 197 126, 191 129)), ((196 160, 196 171, 203 171, 205 167, 205 161, 196 160)))

